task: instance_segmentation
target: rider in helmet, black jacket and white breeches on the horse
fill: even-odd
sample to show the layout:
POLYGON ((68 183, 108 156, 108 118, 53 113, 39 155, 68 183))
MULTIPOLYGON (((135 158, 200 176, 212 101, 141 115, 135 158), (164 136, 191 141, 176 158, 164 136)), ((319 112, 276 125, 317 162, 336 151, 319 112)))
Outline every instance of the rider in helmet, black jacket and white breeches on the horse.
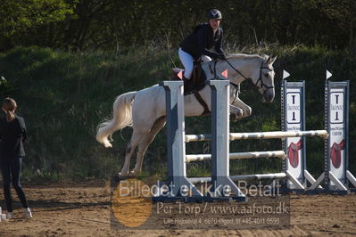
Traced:
POLYGON ((202 58, 202 61, 211 59, 225 59, 222 49, 223 31, 219 27, 222 20, 221 12, 211 9, 208 12, 208 22, 195 27, 193 33, 187 36, 179 45, 178 55, 184 68, 184 79, 192 77, 194 61, 202 58), (214 51, 211 51, 212 46, 214 51))

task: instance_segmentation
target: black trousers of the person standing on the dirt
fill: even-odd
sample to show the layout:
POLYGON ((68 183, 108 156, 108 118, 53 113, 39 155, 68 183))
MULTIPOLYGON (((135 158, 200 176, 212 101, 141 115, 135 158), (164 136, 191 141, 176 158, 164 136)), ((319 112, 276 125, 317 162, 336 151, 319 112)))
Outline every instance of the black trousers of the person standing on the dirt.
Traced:
POLYGON ((10 185, 14 187, 21 200, 23 208, 29 208, 26 195, 20 184, 22 158, 2 158, 0 159, 0 168, 4 181, 4 198, 7 212, 12 212, 12 195, 10 185))

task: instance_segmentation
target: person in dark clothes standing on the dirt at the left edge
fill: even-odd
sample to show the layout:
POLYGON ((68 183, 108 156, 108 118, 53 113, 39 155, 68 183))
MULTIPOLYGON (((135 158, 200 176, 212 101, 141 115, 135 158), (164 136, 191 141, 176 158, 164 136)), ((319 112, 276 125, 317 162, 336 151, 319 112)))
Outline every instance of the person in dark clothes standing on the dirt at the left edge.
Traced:
POLYGON ((0 168, 4 181, 4 198, 8 219, 13 218, 10 184, 21 200, 24 217, 32 217, 29 203, 20 184, 21 162, 22 157, 25 156, 23 142, 27 135, 25 120, 15 114, 16 108, 17 104, 12 98, 4 98, 2 109, 5 117, 0 119, 0 168))

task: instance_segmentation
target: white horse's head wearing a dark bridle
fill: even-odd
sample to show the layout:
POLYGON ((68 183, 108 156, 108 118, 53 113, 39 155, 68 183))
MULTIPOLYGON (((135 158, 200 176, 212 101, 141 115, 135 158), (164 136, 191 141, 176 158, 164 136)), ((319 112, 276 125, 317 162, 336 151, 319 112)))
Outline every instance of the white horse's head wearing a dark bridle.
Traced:
POLYGON ((260 93, 266 102, 273 102, 275 98, 275 71, 273 69, 273 62, 277 57, 264 56, 261 59, 260 65, 253 69, 251 79, 253 84, 257 86, 260 93))

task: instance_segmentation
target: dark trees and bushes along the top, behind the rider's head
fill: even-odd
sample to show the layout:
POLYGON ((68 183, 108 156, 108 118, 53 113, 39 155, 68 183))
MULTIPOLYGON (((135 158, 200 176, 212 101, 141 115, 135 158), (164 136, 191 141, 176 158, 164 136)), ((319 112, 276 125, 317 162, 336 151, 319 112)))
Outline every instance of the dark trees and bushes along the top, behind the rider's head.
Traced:
POLYGON ((222 12, 228 45, 356 51, 354 0, 6 0, 0 3, 0 51, 17 45, 74 51, 178 47, 210 8, 222 12))

